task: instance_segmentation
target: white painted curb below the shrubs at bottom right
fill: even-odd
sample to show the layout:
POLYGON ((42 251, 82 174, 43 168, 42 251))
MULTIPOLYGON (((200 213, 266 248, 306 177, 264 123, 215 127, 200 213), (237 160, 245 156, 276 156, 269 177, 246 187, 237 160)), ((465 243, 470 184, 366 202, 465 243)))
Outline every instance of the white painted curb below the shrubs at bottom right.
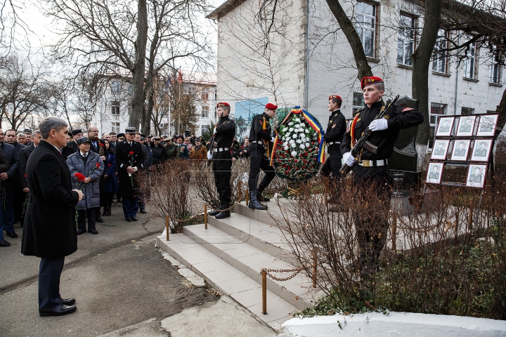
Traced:
POLYGON ((282 324, 283 332, 300 337, 504 337, 506 321, 412 312, 369 312, 293 318, 282 324), (339 328, 339 324, 341 327, 339 328))

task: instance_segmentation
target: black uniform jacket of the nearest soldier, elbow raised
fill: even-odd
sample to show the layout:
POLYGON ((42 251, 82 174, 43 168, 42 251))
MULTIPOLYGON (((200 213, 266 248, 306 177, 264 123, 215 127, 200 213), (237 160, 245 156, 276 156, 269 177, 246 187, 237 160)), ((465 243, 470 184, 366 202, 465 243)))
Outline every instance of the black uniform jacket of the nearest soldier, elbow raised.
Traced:
MULTIPOLYGON (((381 108, 384 106, 383 101, 374 103, 371 107, 363 107, 358 110, 355 117, 358 116, 354 126, 354 136, 359 140, 365 128, 369 126, 371 121, 380 114, 381 108)), ((353 117, 353 118, 355 118, 353 117)), ((373 131, 368 137, 367 142, 371 147, 377 147, 377 154, 363 148, 361 159, 362 160, 380 160, 388 159, 392 152, 394 152, 394 144, 398 138, 398 133, 403 128, 410 128, 417 126, 424 120, 423 115, 416 109, 406 107, 394 107, 384 116, 387 119, 388 128, 382 131, 373 131)), ((350 126, 351 128, 351 126, 350 126)), ((350 152, 351 150, 351 130, 346 130, 341 144, 341 153, 350 152)))

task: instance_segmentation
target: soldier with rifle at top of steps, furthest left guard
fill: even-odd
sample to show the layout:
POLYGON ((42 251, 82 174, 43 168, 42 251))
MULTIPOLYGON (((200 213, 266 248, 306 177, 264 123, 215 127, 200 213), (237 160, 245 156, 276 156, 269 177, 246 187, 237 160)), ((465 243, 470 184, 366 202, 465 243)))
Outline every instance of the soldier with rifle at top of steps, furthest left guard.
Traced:
POLYGON ((210 216, 216 216, 216 219, 228 218, 230 211, 226 210, 230 206, 232 190, 230 185, 232 174, 232 154, 230 147, 235 136, 235 122, 228 118, 231 107, 228 103, 218 103, 216 105, 216 115, 219 119, 214 126, 214 136, 212 138, 211 150, 207 152, 207 158, 213 161, 214 183, 219 194, 219 210, 209 212, 210 216))

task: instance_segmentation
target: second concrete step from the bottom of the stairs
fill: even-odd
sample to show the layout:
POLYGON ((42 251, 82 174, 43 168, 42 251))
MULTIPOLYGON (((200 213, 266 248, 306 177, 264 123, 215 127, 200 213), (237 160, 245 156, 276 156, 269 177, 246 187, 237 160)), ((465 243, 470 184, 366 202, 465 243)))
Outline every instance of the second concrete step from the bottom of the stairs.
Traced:
MULTIPOLYGON (((183 227, 183 233, 190 239, 193 239, 193 241, 201 244, 208 251, 214 253, 221 260, 253 279, 259 285, 261 285, 260 270, 262 268, 274 270, 290 270, 294 268, 294 265, 275 258, 275 256, 266 253, 265 250, 250 246, 247 242, 236 239, 211 225, 208 226, 207 230, 203 224, 185 226, 183 227)), ((264 247, 266 247, 265 243, 264 247)), ((273 274, 278 277, 287 277, 292 272, 284 274, 273 272, 273 274)), ((311 287, 311 284, 311 279, 306 277, 302 272, 287 281, 277 281, 269 277, 267 278, 267 289, 299 310, 308 308, 311 305, 311 301, 316 300, 321 295, 321 293, 311 287)))

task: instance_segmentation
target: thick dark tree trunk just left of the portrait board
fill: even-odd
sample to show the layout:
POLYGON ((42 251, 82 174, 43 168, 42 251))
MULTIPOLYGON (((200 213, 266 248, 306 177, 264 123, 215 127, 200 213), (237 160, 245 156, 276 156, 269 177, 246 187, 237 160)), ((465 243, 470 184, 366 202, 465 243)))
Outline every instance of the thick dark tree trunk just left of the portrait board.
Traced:
POLYGON ((427 145, 430 136, 429 126, 429 65, 432 51, 436 44, 439 25, 441 23, 441 0, 425 1, 425 18, 420 44, 413 55, 413 74, 411 75, 411 94, 420 100, 419 110, 424 121, 418 126, 416 143, 427 145))

